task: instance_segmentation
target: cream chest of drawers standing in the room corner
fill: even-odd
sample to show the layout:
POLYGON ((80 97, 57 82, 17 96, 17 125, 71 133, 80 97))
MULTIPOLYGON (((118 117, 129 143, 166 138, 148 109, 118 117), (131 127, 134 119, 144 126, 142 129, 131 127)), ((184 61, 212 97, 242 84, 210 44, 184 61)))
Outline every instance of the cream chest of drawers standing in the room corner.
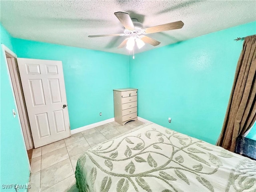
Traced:
POLYGON ((138 89, 114 89, 115 122, 120 125, 130 120, 137 120, 137 92, 138 89))

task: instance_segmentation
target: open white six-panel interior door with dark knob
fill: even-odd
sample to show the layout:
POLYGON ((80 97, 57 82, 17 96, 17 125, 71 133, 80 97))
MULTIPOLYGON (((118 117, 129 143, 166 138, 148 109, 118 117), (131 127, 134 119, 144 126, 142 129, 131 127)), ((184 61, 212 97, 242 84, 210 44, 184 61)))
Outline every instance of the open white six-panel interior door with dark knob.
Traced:
POLYGON ((61 61, 17 58, 34 147, 70 136, 61 61))

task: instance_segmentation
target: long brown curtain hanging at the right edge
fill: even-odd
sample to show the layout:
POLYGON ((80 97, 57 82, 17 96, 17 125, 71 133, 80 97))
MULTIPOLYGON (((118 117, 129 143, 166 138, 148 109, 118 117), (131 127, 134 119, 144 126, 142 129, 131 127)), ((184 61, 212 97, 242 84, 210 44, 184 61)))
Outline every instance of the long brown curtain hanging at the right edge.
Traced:
POLYGON ((236 138, 256 120, 256 35, 244 39, 217 145, 234 152, 236 138))

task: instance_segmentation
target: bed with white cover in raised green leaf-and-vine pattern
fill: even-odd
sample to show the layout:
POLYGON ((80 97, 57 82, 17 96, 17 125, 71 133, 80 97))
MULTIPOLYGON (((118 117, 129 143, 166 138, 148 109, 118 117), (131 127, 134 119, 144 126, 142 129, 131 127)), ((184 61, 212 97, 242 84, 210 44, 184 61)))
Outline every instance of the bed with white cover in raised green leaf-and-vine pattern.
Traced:
POLYGON ((256 161, 147 123, 78 158, 81 192, 256 191, 256 161))

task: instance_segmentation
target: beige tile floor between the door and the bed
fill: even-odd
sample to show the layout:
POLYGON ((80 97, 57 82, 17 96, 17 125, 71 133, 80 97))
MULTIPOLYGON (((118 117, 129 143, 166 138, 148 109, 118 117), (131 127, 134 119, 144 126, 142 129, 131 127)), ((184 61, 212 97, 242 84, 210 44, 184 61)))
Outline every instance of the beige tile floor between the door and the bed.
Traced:
POLYGON ((138 120, 124 126, 111 122, 34 149, 29 192, 78 192, 74 172, 79 156, 96 144, 142 124, 138 120))

